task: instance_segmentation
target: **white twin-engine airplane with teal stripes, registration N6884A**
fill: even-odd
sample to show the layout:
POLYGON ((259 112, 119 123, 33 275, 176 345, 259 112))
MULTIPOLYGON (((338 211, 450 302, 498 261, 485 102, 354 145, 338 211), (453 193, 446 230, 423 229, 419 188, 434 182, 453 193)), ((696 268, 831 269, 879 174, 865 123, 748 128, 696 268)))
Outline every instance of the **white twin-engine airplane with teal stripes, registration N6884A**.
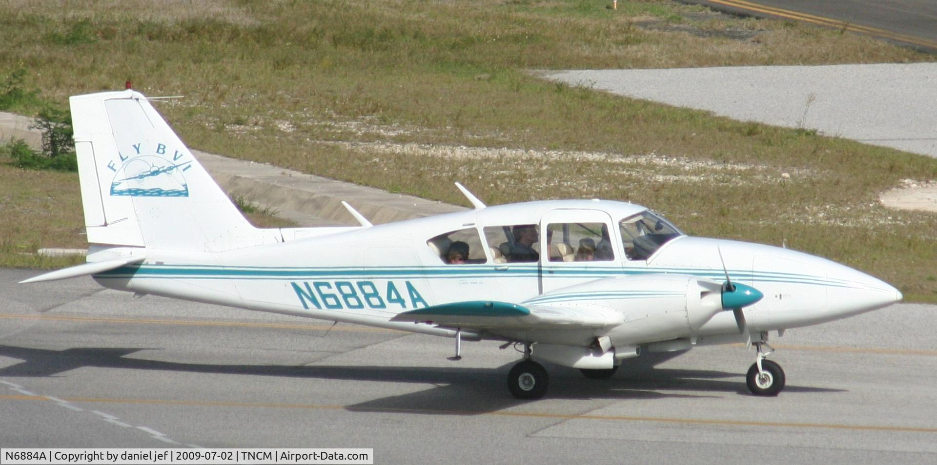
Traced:
POLYGON ((97 283, 247 310, 523 347, 519 399, 549 378, 535 360, 607 378, 645 352, 747 343, 752 393, 777 395, 782 333, 880 309, 891 285, 809 254, 693 238, 631 203, 556 200, 353 227, 253 227, 142 94, 70 99, 87 263, 23 283, 97 283))

